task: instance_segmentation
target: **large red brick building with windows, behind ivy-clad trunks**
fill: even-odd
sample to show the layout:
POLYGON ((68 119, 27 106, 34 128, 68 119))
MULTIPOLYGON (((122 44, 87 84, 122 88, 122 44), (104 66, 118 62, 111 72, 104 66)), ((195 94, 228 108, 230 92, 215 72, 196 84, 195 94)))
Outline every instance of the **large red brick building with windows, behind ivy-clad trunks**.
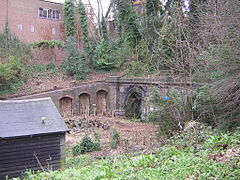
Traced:
MULTIPOLYGON (((39 40, 65 40, 63 4, 45 0, 0 0, 0 5, 0 31, 8 22, 11 32, 26 43, 39 40)), ((89 5, 86 6, 86 10, 89 27, 93 31, 93 11, 89 5)), ((64 53, 58 49, 38 50, 33 52, 33 57, 37 62, 61 62, 64 53)))

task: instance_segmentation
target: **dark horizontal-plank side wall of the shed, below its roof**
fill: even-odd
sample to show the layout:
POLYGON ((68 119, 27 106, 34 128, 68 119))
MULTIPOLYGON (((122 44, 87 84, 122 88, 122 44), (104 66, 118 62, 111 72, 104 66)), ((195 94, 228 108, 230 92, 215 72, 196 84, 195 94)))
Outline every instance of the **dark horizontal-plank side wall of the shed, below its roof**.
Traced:
POLYGON ((59 169, 60 135, 0 140, 0 180, 21 176, 26 169, 59 169))

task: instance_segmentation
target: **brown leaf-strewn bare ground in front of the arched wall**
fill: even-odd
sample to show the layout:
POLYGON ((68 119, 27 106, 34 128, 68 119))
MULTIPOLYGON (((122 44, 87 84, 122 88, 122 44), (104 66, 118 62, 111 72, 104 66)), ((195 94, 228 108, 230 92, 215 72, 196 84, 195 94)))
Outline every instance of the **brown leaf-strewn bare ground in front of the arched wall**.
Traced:
POLYGON ((81 142, 85 135, 94 138, 94 133, 100 135, 102 150, 89 154, 99 158, 124 153, 149 153, 159 147, 157 125, 154 124, 130 122, 119 117, 72 117, 66 119, 66 122, 70 128, 66 137, 68 155, 71 154, 71 147, 81 142), (120 133, 117 149, 111 148, 113 130, 120 133))

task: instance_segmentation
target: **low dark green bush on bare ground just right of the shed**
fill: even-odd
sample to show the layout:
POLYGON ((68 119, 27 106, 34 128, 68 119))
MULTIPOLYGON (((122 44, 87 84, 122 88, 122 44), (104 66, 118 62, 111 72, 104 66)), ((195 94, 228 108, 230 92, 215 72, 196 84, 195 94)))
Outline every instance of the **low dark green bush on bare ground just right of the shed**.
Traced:
POLYGON ((73 146, 73 156, 85 154, 86 152, 101 150, 100 142, 93 142, 89 136, 84 136, 81 143, 73 146))

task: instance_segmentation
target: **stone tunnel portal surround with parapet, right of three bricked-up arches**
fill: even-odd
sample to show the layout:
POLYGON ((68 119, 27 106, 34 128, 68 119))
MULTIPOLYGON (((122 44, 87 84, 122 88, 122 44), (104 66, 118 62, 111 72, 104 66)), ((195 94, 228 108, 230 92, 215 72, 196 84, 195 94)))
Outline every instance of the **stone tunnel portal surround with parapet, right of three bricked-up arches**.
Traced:
POLYGON ((196 84, 191 83, 189 78, 179 77, 159 77, 155 79, 108 77, 106 82, 109 83, 110 93, 113 94, 111 103, 116 114, 126 114, 129 97, 135 93, 138 94, 138 98, 141 98, 139 106, 141 118, 148 113, 145 102, 152 87, 157 88, 162 94, 165 94, 171 88, 184 92, 196 87, 196 84))

